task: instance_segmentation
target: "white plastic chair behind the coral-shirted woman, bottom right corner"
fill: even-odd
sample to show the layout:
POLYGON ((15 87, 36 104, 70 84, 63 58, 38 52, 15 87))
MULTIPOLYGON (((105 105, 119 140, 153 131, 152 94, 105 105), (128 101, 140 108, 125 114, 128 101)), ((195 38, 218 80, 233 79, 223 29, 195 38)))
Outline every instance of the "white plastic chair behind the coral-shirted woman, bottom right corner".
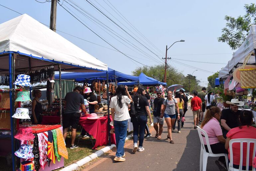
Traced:
MULTIPOLYGON (((249 170, 249 150, 250 150, 250 146, 253 145, 253 157, 252 160, 255 156, 255 151, 256 151, 256 139, 250 139, 250 138, 239 138, 239 139, 231 139, 229 141, 229 152, 230 152, 230 164, 228 167, 228 170, 231 171, 242 171, 242 165, 243 165, 243 142, 245 142, 247 144, 247 149, 246 149, 246 171, 249 170), (239 164, 239 169, 235 169, 233 168, 233 149, 232 149, 232 144, 238 142, 240 143, 240 164, 239 164), (250 143, 254 143, 254 144, 250 144, 250 143), (248 145, 250 144, 250 145, 248 145)), ((255 170, 255 169, 252 169, 255 170)))

